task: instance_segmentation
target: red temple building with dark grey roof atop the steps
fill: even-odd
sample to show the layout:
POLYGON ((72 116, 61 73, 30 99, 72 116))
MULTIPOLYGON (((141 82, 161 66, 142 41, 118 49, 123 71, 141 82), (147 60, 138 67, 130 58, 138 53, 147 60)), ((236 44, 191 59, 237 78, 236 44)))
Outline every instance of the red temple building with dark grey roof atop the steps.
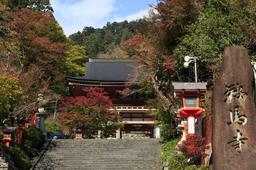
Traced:
MULTIPOLYGON (((125 83, 137 63, 132 59, 89 59, 86 63, 86 75, 82 77, 66 77, 68 87, 73 97, 83 96, 84 87, 99 87, 108 92, 114 108, 122 121, 126 122, 124 128, 117 130, 116 138, 122 138, 124 133, 144 133, 151 138, 160 138, 160 130, 154 126, 154 120, 146 114, 148 109, 144 106, 143 95, 134 93, 122 98, 117 90, 123 90, 125 83)), ((131 87, 132 88, 132 87, 131 87)))

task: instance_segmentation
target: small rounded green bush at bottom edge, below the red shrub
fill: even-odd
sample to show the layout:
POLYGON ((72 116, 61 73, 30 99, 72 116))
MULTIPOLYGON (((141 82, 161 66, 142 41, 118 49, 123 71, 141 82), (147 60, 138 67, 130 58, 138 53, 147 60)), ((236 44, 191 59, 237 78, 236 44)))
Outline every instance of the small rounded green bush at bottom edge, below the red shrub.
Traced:
POLYGON ((188 158, 184 154, 176 154, 168 162, 168 170, 183 170, 188 166, 188 158))

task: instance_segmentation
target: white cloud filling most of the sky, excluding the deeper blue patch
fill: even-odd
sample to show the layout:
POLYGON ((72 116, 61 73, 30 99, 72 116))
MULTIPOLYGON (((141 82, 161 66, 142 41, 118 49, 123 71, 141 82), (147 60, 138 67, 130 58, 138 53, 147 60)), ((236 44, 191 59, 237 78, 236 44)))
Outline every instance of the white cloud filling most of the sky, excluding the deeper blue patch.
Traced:
POLYGON ((147 10, 140 10, 135 14, 125 17, 118 15, 111 16, 111 13, 117 12, 115 7, 116 0, 50 0, 54 9, 54 17, 62 26, 66 36, 82 31, 85 26, 102 28, 108 21, 122 22, 124 20, 132 21, 142 18, 147 10))

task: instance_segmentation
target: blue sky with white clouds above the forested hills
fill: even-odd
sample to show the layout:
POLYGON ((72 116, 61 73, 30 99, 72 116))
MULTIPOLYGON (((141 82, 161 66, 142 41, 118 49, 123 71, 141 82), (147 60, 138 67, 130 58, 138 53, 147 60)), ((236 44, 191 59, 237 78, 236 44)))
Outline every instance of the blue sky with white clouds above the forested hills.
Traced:
POLYGON ((50 0, 54 17, 66 36, 85 26, 102 28, 106 22, 136 20, 147 14, 156 0, 50 0))

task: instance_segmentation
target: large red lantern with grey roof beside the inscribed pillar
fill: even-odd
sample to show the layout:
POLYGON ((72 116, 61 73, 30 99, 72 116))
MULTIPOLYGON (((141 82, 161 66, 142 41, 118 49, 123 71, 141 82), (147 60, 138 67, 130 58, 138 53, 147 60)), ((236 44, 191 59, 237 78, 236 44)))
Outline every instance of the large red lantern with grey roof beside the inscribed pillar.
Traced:
MULTIPOLYGON (((204 98, 207 82, 188 83, 188 82, 172 82, 174 86, 174 98, 182 99, 182 108, 178 109, 177 117, 182 119, 182 124, 186 134, 195 134, 195 122, 198 118, 198 134, 202 135, 202 113, 203 108, 199 107, 199 99, 204 98)), ((178 129, 182 130, 182 125, 178 129)))

